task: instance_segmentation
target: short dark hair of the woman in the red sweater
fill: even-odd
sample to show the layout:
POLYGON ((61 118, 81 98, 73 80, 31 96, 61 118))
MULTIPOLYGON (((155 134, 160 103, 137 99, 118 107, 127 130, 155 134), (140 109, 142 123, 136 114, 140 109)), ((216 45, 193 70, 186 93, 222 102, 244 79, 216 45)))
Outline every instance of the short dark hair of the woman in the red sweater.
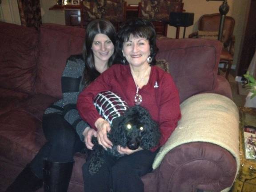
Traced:
MULTIPOLYGON (((127 42, 130 36, 145 38, 149 41, 150 45, 150 56, 152 57, 151 65, 156 64, 156 53, 158 48, 156 46, 156 31, 153 24, 141 18, 127 20, 119 29, 116 40, 116 52, 119 57, 124 61, 125 58, 122 53, 124 42, 127 42)), ((124 62, 127 64, 127 62, 124 62)))

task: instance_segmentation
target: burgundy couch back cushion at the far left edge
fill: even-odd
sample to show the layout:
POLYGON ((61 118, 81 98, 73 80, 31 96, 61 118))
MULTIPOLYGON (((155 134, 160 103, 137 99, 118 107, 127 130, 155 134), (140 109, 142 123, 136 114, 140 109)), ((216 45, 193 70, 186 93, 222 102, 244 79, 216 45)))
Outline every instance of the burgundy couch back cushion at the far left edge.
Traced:
POLYGON ((35 29, 0 22, 0 88, 32 93, 37 43, 35 29))

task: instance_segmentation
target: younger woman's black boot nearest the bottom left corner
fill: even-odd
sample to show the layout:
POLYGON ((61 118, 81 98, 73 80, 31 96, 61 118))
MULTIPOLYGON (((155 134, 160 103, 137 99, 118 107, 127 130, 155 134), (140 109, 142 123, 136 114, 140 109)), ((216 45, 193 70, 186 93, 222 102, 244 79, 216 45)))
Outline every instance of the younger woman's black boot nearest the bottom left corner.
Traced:
POLYGON ((28 164, 5 192, 35 192, 42 186, 43 179, 38 178, 28 164))

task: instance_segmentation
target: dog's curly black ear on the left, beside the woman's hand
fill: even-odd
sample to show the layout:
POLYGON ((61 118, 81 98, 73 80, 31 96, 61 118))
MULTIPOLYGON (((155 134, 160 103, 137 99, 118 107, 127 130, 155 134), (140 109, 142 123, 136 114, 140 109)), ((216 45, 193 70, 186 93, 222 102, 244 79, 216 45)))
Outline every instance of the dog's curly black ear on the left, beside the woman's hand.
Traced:
POLYGON ((116 117, 111 124, 111 131, 109 133, 109 139, 114 145, 126 146, 126 131, 124 130, 124 116, 116 117))

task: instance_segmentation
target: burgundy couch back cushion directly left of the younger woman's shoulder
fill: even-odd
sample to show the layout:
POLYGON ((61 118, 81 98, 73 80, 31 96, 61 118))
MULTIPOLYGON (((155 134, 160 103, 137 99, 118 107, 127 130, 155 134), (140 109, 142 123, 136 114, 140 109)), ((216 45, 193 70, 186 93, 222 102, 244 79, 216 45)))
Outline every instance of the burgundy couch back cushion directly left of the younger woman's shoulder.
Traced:
POLYGON ((41 25, 35 92, 61 98, 61 75, 66 60, 82 52, 84 36, 83 28, 41 25))

